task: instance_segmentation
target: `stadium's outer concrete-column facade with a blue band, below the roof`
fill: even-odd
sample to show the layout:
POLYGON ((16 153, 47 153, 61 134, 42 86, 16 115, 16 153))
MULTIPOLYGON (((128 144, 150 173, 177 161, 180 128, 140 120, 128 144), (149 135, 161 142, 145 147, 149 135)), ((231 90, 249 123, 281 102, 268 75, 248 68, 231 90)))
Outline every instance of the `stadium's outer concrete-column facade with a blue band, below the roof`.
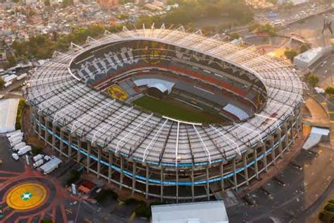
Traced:
POLYGON ((132 194, 142 193, 146 198, 175 202, 210 200, 216 193, 228 188, 242 190, 258 180, 259 174, 275 166, 278 159, 283 159, 284 153, 290 150, 302 131, 300 107, 297 107, 295 114, 288 117, 264 143, 259 142, 240 157, 204 166, 163 167, 125 159, 90 142, 81 141, 67 128, 57 126, 51 119, 39 114, 35 107, 31 106, 31 111, 34 131, 60 157, 80 162, 87 172, 115 183, 120 189, 128 188, 132 194))

